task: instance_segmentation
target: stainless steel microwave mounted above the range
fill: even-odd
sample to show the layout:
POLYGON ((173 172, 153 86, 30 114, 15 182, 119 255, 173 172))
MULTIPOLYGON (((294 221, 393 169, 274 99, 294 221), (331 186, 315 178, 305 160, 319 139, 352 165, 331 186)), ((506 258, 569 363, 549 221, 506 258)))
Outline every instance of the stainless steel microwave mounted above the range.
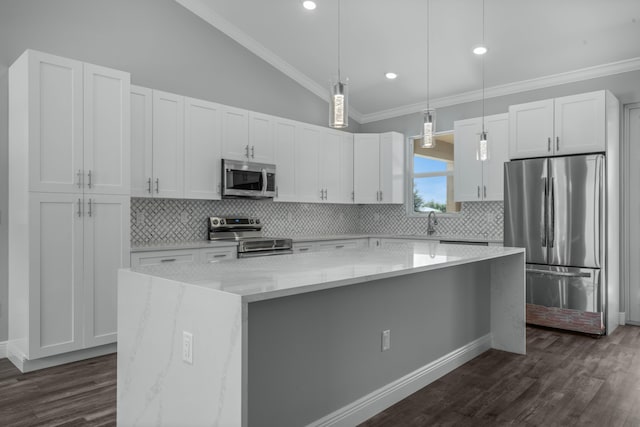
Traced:
POLYGON ((222 197, 265 199, 276 195, 276 166, 222 159, 222 197))

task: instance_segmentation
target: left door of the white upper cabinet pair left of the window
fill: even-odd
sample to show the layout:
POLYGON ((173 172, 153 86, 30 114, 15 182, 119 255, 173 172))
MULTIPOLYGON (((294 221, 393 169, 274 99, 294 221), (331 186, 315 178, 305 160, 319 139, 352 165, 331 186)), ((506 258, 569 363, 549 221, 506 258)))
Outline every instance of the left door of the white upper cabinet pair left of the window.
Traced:
POLYGON ((380 135, 353 136, 353 191, 355 203, 380 201, 380 135))

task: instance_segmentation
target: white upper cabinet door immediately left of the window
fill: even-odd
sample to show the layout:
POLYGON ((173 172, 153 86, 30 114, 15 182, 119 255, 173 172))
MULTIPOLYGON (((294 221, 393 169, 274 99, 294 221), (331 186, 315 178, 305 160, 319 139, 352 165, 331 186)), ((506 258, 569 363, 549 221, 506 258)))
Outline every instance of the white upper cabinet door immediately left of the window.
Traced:
POLYGON ((380 135, 380 203, 404 202, 404 136, 380 135))

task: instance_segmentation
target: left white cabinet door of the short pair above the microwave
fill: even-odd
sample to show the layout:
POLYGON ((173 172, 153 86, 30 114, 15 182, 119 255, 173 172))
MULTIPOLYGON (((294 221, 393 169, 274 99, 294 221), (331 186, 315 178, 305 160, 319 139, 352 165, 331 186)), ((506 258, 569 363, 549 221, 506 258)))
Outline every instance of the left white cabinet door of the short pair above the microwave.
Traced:
POLYGON ((249 114, 247 110, 222 106, 222 157, 249 159, 249 114))

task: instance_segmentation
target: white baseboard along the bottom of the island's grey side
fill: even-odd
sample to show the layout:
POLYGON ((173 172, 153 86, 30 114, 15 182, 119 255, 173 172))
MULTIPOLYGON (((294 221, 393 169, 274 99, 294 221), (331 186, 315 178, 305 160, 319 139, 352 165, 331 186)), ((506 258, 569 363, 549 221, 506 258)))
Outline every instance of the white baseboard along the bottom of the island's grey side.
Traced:
POLYGON ((322 417, 308 427, 349 427, 360 424, 490 348, 491 334, 488 334, 322 417))

